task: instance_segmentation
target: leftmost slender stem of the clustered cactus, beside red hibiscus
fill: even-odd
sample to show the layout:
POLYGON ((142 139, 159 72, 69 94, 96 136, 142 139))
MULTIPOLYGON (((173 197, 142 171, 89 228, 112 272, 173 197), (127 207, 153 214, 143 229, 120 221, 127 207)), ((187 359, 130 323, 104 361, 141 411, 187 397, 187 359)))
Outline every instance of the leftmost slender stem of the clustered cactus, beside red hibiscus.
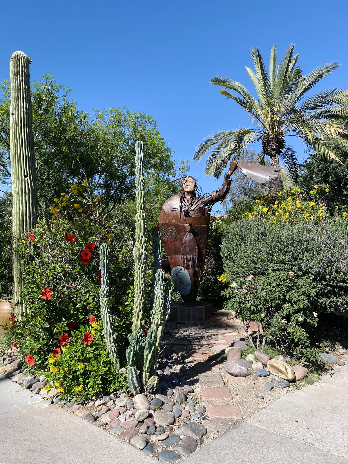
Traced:
POLYGON ((109 254, 110 248, 109 245, 102 243, 99 248, 100 256, 100 274, 101 274, 101 287, 99 290, 100 295, 100 308, 102 310, 102 319, 103 319, 103 334, 106 342, 106 347, 110 359, 116 369, 120 368, 120 361, 117 349, 117 339, 114 333, 112 326, 112 318, 110 314, 110 305, 109 305, 109 254))

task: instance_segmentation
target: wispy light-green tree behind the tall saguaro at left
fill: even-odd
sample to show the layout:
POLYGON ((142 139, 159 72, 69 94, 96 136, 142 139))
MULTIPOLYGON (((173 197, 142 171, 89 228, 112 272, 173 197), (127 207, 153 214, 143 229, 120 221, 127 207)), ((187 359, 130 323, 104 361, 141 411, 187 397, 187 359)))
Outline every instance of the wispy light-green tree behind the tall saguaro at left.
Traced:
MULTIPOLYGON (((0 101, 0 181, 10 185, 9 82, 2 84, 0 101)), ((135 142, 145 145, 148 201, 155 194, 167 198, 176 191, 168 180, 175 177, 172 151, 161 137, 156 121, 126 108, 96 110, 94 116, 79 111, 70 99, 71 89, 56 84, 52 74, 33 82, 32 114, 37 162, 39 213, 49 210, 55 197, 71 183, 86 179, 112 210, 135 196, 135 142)))

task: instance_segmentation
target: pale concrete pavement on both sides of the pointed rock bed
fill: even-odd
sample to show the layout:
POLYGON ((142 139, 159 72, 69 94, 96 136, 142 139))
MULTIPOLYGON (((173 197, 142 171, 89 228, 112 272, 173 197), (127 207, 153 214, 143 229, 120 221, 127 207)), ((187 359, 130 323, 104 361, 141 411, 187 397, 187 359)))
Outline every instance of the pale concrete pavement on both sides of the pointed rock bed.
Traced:
MULTIPOLYGON (((0 405, 6 383, 0 383, 0 405)), ((19 404, 17 394, 24 395, 13 393, 12 400, 19 404)), ((321 382, 283 396, 203 446, 185 464, 348 464, 347 418, 348 366, 335 367, 321 382)), ((0 415, 0 464, 23 462, 147 464, 154 460, 64 409, 36 403, 0 415)))

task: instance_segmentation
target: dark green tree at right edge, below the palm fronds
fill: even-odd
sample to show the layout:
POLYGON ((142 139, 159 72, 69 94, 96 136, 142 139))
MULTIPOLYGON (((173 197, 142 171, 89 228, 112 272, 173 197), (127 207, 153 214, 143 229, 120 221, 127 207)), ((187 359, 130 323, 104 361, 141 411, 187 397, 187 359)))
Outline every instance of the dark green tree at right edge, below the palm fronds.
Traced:
POLYGON ((307 193, 314 185, 329 185, 325 204, 330 211, 335 211, 338 206, 348 206, 347 153, 342 150, 340 158, 344 164, 331 163, 310 152, 300 165, 299 185, 307 193))

